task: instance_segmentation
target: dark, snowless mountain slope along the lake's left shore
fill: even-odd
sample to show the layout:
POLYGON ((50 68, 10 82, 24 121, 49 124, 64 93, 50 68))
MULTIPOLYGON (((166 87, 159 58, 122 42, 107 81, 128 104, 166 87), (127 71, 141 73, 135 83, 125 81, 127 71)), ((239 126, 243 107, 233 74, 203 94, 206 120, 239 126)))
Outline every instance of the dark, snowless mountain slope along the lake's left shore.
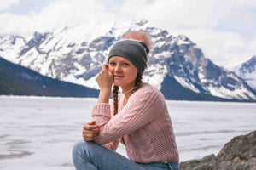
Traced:
POLYGON ((45 77, 0 58, 0 95, 97 97, 98 90, 45 77))

